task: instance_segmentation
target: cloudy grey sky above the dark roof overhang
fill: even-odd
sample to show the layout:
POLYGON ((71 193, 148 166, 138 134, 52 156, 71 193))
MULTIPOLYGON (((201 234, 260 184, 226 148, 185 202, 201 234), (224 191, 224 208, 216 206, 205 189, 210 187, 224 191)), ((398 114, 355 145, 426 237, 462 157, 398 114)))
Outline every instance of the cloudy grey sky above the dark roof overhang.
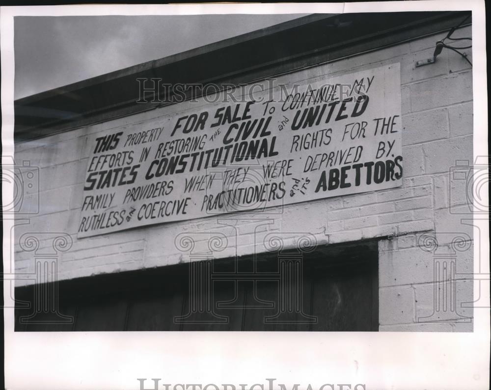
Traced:
POLYGON ((18 16, 15 99, 301 16, 18 16))

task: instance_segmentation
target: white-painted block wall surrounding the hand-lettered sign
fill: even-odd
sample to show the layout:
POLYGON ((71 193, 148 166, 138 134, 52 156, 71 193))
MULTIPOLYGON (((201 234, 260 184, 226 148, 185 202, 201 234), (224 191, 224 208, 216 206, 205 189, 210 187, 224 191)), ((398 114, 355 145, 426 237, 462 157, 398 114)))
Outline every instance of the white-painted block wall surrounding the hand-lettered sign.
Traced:
MULTIPOLYGON (((471 36, 461 28, 456 36, 471 36)), ((465 183, 451 175, 457 160, 473 162, 472 69, 457 53, 443 50, 436 63, 415 67, 433 55, 444 33, 376 52, 304 69, 278 78, 278 83, 316 81, 326 75, 354 73, 399 62, 403 124, 404 180, 400 188, 320 199, 266 209, 265 212, 218 215, 198 220, 151 225, 107 235, 77 239, 82 187, 88 149, 94 135, 116 127, 159 123, 175 106, 118 118, 103 124, 16 144, 17 165, 27 160, 39 176, 39 193, 27 193, 23 207, 39 201, 39 213, 26 214, 27 223, 15 228, 15 269, 33 283, 33 251, 19 240, 38 235, 38 252, 53 251, 53 236, 68 233, 73 245, 58 253, 58 279, 120 272, 189 261, 183 234, 192 237, 193 251, 211 251, 215 257, 246 255, 267 250, 274 235, 285 247, 303 238, 318 245, 382 237, 380 242, 380 330, 462 331, 472 323, 459 316, 441 322, 422 320, 433 302, 433 253, 423 251, 418 237, 436 235, 439 248, 449 248, 463 232, 472 242, 472 228, 461 223, 469 215, 465 183), (456 214, 460 210, 461 214, 456 214), (464 214, 462 214, 464 213, 464 214), (465 214, 467 213, 467 214, 465 214), (45 233, 50 233, 45 234, 45 233), (445 234, 440 234, 445 233, 445 234), (452 236, 453 234, 453 236, 452 236), (221 245, 209 248, 212 237, 221 245), (184 244, 183 244, 184 245, 184 244), (424 268, 423 268, 424 267, 424 268), (404 313, 403 313, 404 312, 404 313)), ((467 51, 468 52, 468 51, 467 51)), ((472 60, 470 52, 467 53, 472 60)), ((179 110, 199 109, 183 103, 179 110)), ((472 300, 472 250, 457 256, 458 300, 472 300)), ((471 317, 471 309, 464 311, 471 317)))

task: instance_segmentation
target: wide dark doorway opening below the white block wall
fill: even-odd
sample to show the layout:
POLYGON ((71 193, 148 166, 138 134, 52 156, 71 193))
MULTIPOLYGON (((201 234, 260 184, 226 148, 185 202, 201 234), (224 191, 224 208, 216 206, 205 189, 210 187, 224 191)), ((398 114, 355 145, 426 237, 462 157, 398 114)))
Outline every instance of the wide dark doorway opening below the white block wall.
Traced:
POLYGON ((16 331, 378 331, 378 243, 261 253, 15 290, 16 331))

